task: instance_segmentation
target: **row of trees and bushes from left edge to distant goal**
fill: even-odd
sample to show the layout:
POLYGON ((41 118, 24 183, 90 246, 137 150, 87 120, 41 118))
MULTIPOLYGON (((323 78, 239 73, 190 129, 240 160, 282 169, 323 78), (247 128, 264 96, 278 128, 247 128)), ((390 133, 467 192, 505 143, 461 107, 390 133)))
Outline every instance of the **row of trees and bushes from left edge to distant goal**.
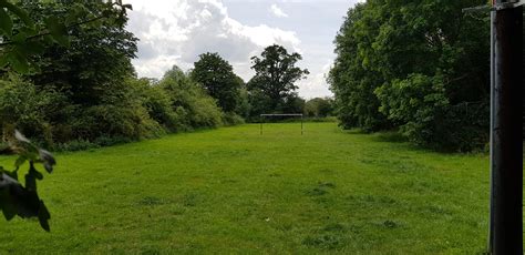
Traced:
POLYGON ((281 45, 269 45, 260 57, 253 57, 256 74, 248 82, 212 52, 200 54, 187 72, 174 65, 159 80, 137 78, 131 60, 136 58, 138 39, 126 31, 125 13, 68 27, 59 21, 78 20, 85 14, 79 10, 106 13, 103 1, 21 1, 17 6, 27 11, 33 26, 62 33, 42 37, 49 43, 24 42, 34 49, 21 48, 17 35, 34 33, 23 34, 24 20, 10 19, 10 33, 2 33, 2 42, 14 43, 0 49, 8 60, 0 63, 3 140, 17 129, 44 147, 82 150, 257 121, 260 113, 308 109, 311 116, 326 116, 331 112, 330 99, 306 102, 298 96, 295 82, 308 71, 296 67, 300 54, 288 53, 281 45))

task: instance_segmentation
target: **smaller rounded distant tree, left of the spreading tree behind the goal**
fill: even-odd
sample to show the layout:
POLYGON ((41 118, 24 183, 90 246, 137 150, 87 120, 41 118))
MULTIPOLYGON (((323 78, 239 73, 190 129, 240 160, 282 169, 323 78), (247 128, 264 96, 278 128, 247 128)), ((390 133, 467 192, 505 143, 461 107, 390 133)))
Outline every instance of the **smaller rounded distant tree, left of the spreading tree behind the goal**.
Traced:
POLYGON ((228 61, 218 53, 200 54, 191 76, 217 100, 223 111, 234 112, 237 109, 241 83, 228 61))

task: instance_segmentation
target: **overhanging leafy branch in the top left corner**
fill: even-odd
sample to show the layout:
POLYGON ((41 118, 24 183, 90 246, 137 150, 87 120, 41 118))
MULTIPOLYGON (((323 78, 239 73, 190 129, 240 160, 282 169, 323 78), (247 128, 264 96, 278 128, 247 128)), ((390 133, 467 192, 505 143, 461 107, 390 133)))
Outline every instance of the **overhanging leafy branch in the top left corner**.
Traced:
POLYGON ((81 26, 96 29, 102 26, 102 20, 123 26, 126 10, 132 9, 131 4, 123 4, 122 0, 95 1, 93 4, 100 8, 93 9, 82 3, 72 4, 74 8, 71 11, 56 8, 56 13, 48 13, 33 21, 23 8, 0 0, 0 71, 10 67, 22 74, 39 72, 31 57, 43 53, 53 43, 69 47, 71 29, 81 26))

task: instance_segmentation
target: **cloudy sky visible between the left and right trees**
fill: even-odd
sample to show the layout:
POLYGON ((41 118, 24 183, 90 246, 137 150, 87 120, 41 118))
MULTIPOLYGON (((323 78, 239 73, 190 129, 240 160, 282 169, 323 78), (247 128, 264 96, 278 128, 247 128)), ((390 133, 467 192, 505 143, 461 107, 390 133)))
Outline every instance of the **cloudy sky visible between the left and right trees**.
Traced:
POLYGON ((250 58, 274 43, 298 52, 310 71, 297 82, 306 99, 330 96, 326 73, 336 58, 333 39, 359 0, 124 0, 132 3, 127 30, 140 39, 133 60, 138 76, 187 71, 198 55, 218 52, 246 82, 250 58))

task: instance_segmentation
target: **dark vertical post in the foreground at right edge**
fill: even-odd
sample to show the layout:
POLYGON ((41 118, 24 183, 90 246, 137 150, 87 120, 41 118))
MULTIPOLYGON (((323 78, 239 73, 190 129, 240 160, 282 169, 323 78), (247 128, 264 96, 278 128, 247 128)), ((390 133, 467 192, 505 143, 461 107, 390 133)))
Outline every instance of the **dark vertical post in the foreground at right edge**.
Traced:
MULTIPOLYGON (((496 4, 502 3, 501 0, 496 4)), ((490 253, 523 254, 523 7, 492 14, 494 60, 491 126, 490 253)))

